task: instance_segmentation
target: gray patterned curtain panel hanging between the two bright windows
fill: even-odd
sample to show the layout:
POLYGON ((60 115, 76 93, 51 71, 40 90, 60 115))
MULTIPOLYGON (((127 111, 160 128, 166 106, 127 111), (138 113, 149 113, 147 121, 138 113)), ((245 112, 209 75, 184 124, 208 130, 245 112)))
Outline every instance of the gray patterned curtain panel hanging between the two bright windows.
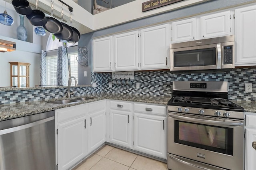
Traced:
POLYGON ((58 60, 57 60, 57 86, 68 85, 67 80, 67 61, 66 48, 58 47, 58 60))

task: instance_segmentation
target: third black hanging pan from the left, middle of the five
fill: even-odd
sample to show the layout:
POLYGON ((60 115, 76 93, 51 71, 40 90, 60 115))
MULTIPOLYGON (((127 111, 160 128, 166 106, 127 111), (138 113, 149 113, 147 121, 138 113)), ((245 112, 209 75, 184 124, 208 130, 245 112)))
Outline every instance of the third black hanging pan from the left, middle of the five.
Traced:
POLYGON ((52 13, 50 17, 46 17, 46 24, 43 25, 44 29, 46 29, 50 33, 60 33, 63 29, 62 24, 57 19, 53 18, 53 0, 52 0, 52 13))

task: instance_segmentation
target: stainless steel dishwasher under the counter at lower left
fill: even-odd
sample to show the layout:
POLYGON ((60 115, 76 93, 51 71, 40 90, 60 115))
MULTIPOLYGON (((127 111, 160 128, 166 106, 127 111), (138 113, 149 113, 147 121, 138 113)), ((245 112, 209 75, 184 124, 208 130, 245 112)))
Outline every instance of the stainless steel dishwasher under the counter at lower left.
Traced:
POLYGON ((55 170, 55 111, 0 121, 0 170, 55 170))

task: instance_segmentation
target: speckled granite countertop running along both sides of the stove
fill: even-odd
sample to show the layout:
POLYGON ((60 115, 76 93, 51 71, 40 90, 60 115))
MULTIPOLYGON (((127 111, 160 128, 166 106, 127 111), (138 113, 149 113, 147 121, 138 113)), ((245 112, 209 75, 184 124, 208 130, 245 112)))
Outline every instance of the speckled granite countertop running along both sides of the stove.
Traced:
MULTIPOLYGON (((104 99, 167 105, 168 101, 171 98, 171 96, 166 96, 166 97, 139 96, 139 95, 129 95, 129 94, 90 94, 87 96, 78 96, 76 98, 81 98, 81 97, 89 97, 91 99, 84 100, 74 104, 49 103, 57 100, 68 100, 68 98, 60 98, 60 99, 54 99, 54 100, 41 100, 41 101, 34 101, 34 102, 24 102, 19 104, 2 105, 0 106, 0 121, 14 119, 18 117, 27 116, 27 115, 33 115, 37 113, 43 113, 46 111, 52 111, 52 110, 75 106, 79 104, 96 102, 104 99)), ((69 98, 69 99, 76 99, 76 98, 69 98)), ((232 100, 232 102, 238 104, 239 106, 244 107, 245 112, 256 113, 256 102, 238 102, 234 100, 232 100)))

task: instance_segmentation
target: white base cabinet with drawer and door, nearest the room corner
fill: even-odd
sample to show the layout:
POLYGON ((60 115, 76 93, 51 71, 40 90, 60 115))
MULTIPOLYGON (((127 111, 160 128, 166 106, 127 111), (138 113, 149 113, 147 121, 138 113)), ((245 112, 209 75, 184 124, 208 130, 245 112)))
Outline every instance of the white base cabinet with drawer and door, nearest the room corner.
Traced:
POLYGON ((131 148, 132 103, 110 102, 110 142, 131 148))

